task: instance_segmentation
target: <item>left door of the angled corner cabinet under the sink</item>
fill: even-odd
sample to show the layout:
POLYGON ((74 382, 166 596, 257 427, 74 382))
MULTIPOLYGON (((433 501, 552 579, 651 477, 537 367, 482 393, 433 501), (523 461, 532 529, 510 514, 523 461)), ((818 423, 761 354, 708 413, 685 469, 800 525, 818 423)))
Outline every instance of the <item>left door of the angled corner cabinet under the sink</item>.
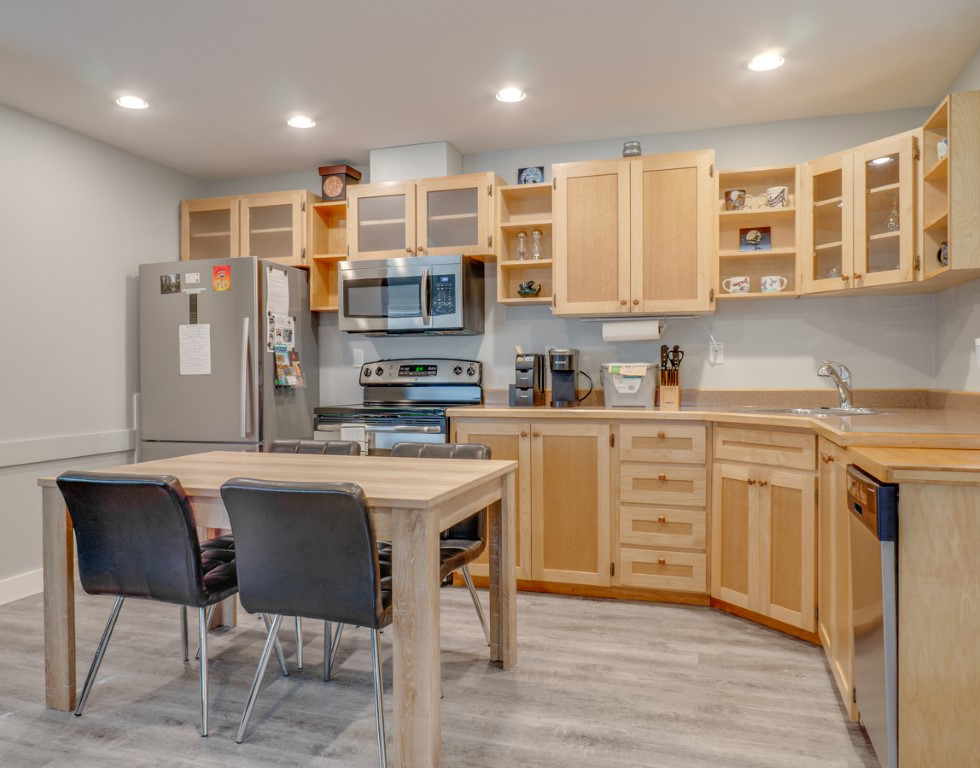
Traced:
POLYGON ((740 608, 750 603, 751 585, 759 580, 758 537, 753 535, 758 509, 754 468, 716 463, 711 493, 711 596, 740 608))

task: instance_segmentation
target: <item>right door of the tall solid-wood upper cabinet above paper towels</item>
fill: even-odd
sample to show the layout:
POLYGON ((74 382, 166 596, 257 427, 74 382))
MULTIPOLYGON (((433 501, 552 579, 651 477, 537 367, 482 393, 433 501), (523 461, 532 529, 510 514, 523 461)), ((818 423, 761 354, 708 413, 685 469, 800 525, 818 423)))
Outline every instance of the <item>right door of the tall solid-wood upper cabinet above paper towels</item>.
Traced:
POLYGON ((630 161, 633 312, 712 308, 717 253, 714 152, 630 161))

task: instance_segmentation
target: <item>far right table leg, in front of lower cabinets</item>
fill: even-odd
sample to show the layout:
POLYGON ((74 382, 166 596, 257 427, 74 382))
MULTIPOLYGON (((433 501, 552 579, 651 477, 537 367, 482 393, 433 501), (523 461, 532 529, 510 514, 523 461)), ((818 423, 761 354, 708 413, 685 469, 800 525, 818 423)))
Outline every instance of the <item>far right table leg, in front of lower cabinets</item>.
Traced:
POLYGON ((515 472, 500 480, 500 502, 489 508, 490 658, 504 669, 517 664, 517 551, 515 472))

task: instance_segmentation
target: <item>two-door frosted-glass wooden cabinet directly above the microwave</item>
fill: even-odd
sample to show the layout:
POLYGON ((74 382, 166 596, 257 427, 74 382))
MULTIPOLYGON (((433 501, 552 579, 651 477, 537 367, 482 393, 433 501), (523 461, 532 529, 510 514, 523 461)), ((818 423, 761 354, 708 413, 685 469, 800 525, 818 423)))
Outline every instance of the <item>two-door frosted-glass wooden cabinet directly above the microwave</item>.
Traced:
POLYGON ((349 187, 351 259, 393 259, 493 250, 493 173, 349 187))

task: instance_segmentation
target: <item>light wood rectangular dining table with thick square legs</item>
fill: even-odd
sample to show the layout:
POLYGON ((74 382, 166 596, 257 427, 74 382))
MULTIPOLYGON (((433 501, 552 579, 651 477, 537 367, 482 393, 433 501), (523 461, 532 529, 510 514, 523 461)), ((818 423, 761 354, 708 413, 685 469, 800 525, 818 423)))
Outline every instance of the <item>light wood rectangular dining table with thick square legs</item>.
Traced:
MULTIPOLYGON (((517 663, 514 482, 517 462, 213 451, 99 470, 173 475, 196 524, 229 528, 222 483, 233 477, 357 483, 378 538, 392 543, 394 765, 439 765, 439 533, 488 510, 490 659, 517 663)), ((55 484, 42 489, 45 703, 75 706, 75 577, 71 518, 55 484)), ((133 510, 138 514, 139 510, 133 510)))

